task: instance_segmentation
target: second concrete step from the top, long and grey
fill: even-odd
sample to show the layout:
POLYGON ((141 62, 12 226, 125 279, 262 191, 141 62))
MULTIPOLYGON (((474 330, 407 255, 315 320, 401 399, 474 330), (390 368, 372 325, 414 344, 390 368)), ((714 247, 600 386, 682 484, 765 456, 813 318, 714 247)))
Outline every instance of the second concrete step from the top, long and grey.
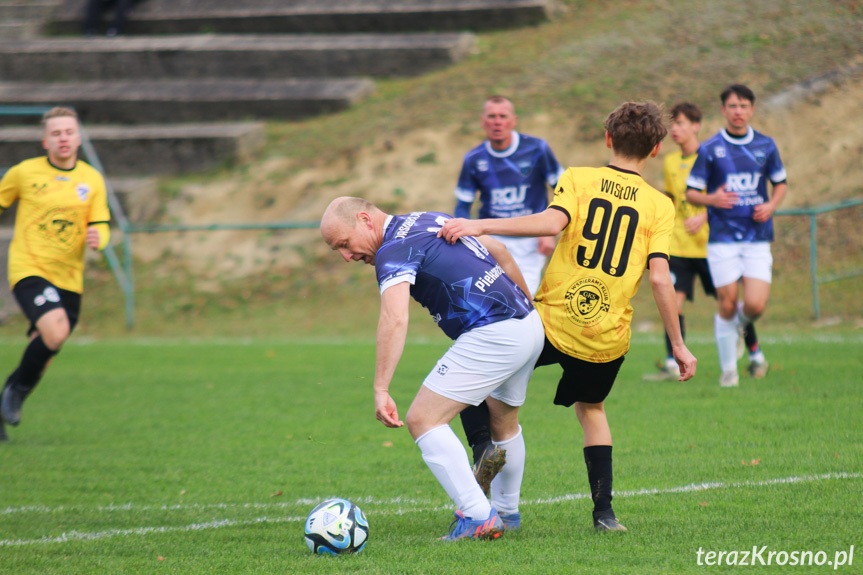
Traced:
POLYGON ((413 76, 467 56, 466 33, 183 35, 0 41, 0 78, 85 81, 124 78, 413 76))

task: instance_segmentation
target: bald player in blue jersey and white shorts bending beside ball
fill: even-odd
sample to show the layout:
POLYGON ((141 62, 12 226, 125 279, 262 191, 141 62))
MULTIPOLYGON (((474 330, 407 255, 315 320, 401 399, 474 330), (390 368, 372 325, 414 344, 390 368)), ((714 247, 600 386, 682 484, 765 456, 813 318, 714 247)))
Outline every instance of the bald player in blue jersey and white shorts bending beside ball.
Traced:
POLYGON ((375 416, 404 425, 389 388, 404 350, 413 297, 455 340, 423 381, 405 417, 423 460, 455 502, 447 540, 491 539, 521 525, 525 448, 518 408, 545 341, 539 313, 506 247, 492 238, 455 245, 437 237, 450 216, 391 216, 360 198, 333 200, 321 235, 345 261, 374 265, 381 291, 375 366, 375 416), (508 453, 491 502, 474 479, 449 422, 466 406, 488 403, 495 445, 508 453))

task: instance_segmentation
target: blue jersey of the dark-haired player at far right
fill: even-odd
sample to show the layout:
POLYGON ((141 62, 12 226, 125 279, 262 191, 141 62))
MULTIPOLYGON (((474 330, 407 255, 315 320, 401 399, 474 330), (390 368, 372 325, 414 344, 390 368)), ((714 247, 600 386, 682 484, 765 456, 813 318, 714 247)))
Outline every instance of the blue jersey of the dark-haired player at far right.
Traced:
POLYGON ((686 185, 712 194, 725 184, 726 191, 738 197, 737 205, 730 209, 707 207, 708 242, 773 241, 773 219, 756 222, 752 215, 755 206, 770 200, 767 180, 776 185, 785 179, 773 138, 751 127, 742 138, 729 136, 723 129, 701 144, 686 185))

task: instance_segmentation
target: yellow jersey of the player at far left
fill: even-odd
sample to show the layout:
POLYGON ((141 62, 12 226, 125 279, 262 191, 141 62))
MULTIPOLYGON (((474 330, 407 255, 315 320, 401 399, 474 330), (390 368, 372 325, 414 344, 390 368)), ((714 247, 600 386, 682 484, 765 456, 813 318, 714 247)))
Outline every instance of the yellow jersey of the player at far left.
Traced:
MULTIPOLYGON (((25 160, 0 181, 0 209, 15 200, 9 284, 39 276, 81 293, 87 227, 110 219, 102 174, 81 160, 71 170, 53 166, 46 157, 25 160)), ((107 233, 107 225, 100 227, 107 233)))

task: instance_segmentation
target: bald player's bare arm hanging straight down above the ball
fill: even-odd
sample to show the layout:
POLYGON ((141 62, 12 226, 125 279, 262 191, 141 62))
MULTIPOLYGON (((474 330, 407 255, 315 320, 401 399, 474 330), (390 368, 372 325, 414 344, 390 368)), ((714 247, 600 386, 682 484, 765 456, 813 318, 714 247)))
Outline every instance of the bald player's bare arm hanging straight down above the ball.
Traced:
POLYGON ((381 294, 375 363, 375 417, 387 427, 402 427, 390 382, 405 348, 408 333, 410 284, 397 283, 381 294))

